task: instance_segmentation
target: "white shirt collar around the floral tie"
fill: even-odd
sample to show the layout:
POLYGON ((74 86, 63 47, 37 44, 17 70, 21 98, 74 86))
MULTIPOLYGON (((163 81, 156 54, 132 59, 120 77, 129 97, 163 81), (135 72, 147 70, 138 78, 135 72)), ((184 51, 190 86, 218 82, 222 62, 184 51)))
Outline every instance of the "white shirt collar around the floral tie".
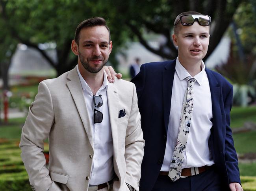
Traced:
MULTIPOLYGON (((197 80, 197 83, 199 85, 202 84, 203 76, 205 73, 205 65, 204 65, 203 61, 201 62, 201 68, 202 68, 202 71, 200 71, 197 75, 193 76, 193 78, 195 78, 197 80)), ((176 59, 175 71, 176 71, 178 77, 180 78, 180 81, 184 80, 187 77, 192 78, 192 76, 183 67, 183 65, 180 64, 179 57, 177 57, 177 59, 176 59)))

